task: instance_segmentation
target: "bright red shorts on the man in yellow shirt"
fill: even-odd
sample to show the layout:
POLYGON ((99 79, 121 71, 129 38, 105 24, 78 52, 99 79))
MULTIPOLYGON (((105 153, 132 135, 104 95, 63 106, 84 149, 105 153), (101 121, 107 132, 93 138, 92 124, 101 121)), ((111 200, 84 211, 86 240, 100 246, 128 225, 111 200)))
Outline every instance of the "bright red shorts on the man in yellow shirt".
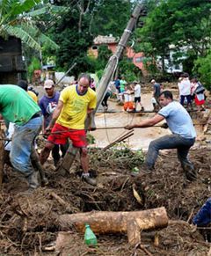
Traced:
POLYGON ((47 137, 47 141, 50 143, 65 144, 69 138, 76 148, 84 148, 87 146, 85 130, 66 128, 55 123, 51 132, 52 134, 47 137))

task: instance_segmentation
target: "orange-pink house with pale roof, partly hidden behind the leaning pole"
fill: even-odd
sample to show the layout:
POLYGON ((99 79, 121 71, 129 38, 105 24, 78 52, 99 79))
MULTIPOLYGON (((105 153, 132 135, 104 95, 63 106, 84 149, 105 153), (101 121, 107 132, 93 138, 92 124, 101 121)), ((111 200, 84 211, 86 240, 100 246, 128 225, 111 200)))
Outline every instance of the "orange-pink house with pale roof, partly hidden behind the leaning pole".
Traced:
MULTIPOLYGON (((98 47, 100 45, 107 45, 107 47, 113 52, 113 54, 116 51, 116 48, 118 46, 119 38, 113 37, 112 34, 109 36, 103 36, 103 35, 98 35, 93 40, 93 45, 89 49, 88 53, 89 55, 93 55, 95 58, 98 58, 98 47)), ((146 72, 143 68, 143 53, 135 53, 134 49, 131 47, 127 47, 125 51, 125 55, 127 55, 127 58, 129 61, 133 62, 136 67, 142 70, 142 72, 146 72)))

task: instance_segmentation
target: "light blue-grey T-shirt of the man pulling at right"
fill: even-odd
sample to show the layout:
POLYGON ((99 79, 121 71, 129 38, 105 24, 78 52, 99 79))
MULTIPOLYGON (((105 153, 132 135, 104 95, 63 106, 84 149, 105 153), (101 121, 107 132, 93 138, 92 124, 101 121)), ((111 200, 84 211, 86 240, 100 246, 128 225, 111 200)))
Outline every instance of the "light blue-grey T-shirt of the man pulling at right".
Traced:
POLYGON ((196 137, 193 121, 186 112, 186 109, 178 102, 172 101, 167 106, 164 106, 158 114, 164 116, 171 132, 176 135, 181 135, 186 139, 196 137))

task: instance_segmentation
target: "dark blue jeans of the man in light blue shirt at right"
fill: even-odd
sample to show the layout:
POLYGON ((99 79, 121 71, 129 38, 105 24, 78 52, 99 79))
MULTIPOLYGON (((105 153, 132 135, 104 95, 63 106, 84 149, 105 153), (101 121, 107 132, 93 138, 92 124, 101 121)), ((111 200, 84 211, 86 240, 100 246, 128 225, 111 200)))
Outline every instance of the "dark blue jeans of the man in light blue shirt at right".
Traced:
POLYGON ((191 164, 187 159, 188 152, 193 146, 195 138, 186 139, 180 135, 165 135, 149 144, 149 150, 146 157, 146 164, 149 168, 154 168, 159 150, 178 150, 178 160, 183 164, 191 164))

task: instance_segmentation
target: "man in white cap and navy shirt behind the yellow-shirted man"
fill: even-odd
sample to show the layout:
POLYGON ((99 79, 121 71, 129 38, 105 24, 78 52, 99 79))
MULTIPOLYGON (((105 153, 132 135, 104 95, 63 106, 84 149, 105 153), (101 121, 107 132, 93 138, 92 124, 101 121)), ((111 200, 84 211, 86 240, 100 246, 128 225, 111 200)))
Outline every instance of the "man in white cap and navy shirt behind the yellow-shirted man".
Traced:
MULTIPOLYGON (((44 116, 43 124, 42 124, 42 131, 45 132, 45 128, 49 125, 52 114, 55 111, 55 107, 59 102, 60 93, 59 91, 55 91, 55 83, 51 79, 47 79, 44 82, 44 89, 46 91, 46 95, 42 96, 39 100, 39 106, 41 108, 41 112, 44 116)), ((66 150, 68 148, 68 143, 65 145, 55 145, 52 150, 52 157, 54 158, 55 167, 58 165, 60 161, 60 149, 62 151, 62 157, 64 157, 66 150)))

